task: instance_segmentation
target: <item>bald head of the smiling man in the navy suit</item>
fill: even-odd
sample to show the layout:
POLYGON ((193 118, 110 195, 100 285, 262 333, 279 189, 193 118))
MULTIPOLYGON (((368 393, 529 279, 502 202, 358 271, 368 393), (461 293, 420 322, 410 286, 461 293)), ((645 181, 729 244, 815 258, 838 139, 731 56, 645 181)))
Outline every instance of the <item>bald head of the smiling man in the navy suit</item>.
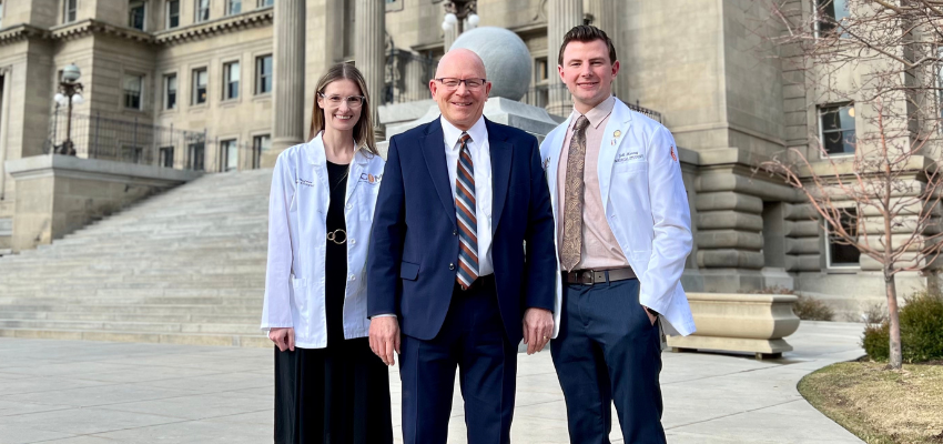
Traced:
POLYGON ((436 77, 429 80, 429 91, 438 103, 443 119, 467 131, 481 119, 491 83, 485 75, 481 58, 458 48, 448 51, 439 60, 436 77))

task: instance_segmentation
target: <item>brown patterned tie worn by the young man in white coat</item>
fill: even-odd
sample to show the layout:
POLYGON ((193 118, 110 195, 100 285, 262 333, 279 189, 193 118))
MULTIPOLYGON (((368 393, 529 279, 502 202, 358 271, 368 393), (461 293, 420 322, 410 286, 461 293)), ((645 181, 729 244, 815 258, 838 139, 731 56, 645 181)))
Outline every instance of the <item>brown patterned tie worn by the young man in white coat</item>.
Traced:
POLYGON ((567 188, 564 203, 564 245, 560 265, 572 271, 582 252, 582 171, 586 167, 586 127, 589 120, 580 115, 574 127, 567 157, 567 188))

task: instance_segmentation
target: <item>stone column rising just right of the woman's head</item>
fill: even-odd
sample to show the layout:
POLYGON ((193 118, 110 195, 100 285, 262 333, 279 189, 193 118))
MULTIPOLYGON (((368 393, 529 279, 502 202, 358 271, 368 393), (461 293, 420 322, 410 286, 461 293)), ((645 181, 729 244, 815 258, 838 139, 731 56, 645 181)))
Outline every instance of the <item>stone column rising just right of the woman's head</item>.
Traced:
MULTIPOLYGON (((383 134, 377 113, 383 98, 384 73, 386 72, 386 2, 384 0, 357 0, 354 8, 354 59, 357 69, 364 74, 371 99, 373 100, 371 117, 374 131, 383 134)), ((381 139, 382 140, 382 139, 381 139)))

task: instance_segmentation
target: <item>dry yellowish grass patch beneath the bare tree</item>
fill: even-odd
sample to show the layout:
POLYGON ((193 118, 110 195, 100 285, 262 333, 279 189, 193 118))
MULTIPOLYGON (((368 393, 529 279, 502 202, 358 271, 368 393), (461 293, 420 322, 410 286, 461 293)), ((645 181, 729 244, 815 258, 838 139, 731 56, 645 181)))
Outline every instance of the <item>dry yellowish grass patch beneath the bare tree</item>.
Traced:
POLYGON ((799 393, 869 444, 943 444, 943 365, 874 362, 829 365, 802 379, 799 393))

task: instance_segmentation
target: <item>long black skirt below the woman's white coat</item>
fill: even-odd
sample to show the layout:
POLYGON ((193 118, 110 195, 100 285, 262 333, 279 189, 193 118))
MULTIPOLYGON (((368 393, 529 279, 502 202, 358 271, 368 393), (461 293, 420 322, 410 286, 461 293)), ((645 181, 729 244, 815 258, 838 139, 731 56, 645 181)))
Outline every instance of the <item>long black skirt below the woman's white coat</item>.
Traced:
POLYGON ((389 374, 368 339, 275 347, 275 443, 392 442, 389 374))

